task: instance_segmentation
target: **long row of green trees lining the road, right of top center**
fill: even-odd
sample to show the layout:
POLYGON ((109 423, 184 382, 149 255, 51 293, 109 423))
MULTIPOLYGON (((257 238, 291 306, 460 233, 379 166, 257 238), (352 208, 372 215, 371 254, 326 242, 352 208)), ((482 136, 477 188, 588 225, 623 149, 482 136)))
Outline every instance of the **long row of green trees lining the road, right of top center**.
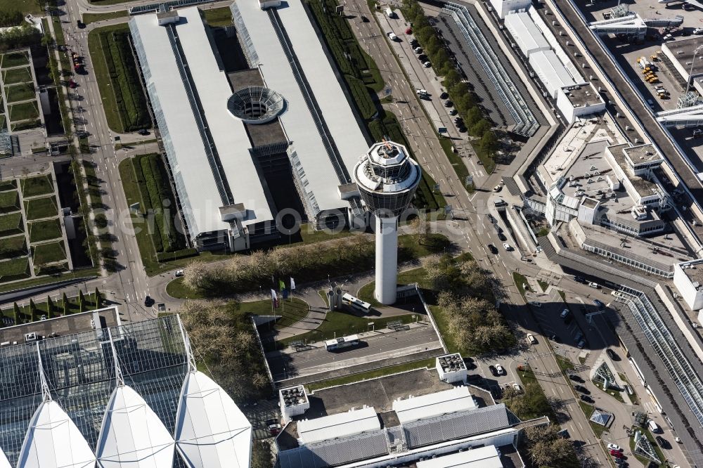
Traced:
POLYGON ((484 112, 479 107, 470 85, 463 81, 456 71, 442 39, 430 25, 422 6, 416 0, 404 0, 403 5, 406 19, 413 24, 415 38, 423 46, 427 57, 434 65, 434 70, 444 77, 444 86, 454 103, 454 108, 463 118, 469 134, 480 138, 477 143, 474 143, 475 150, 486 157, 493 157, 498 149, 498 138, 492 130, 493 124, 484 117, 484 112))

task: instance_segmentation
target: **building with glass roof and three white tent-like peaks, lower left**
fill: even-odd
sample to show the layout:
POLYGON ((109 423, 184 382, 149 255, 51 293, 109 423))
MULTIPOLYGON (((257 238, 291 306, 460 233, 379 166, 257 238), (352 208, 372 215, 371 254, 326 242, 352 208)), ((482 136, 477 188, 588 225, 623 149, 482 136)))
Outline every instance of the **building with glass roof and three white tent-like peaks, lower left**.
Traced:
POLYGON ((249 467, 251 424, 195 368, 179 316, 103 308, 0 339, 0 467, 249 467))

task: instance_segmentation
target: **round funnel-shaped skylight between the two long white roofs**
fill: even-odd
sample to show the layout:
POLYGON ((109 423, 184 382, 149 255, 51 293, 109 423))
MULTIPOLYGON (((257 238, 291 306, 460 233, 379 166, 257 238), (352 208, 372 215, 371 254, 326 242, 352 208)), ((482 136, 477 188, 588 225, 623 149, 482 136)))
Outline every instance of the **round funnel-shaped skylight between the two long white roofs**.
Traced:
POLYGON ((265 124, 283 110, 285 100, 273 89, 249 86, 236 91, 227 100, 227 110, 247 124, 265 124))

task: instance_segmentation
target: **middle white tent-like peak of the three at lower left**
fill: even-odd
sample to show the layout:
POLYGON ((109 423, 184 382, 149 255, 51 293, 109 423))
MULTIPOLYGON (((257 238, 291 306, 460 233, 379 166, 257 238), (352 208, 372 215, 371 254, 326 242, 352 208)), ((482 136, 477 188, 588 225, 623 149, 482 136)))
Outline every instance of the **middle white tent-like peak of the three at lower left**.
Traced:
POLYGON ((98 437, 101 468, 172 468, 174 438, 129 386, 112 391, 98 437))

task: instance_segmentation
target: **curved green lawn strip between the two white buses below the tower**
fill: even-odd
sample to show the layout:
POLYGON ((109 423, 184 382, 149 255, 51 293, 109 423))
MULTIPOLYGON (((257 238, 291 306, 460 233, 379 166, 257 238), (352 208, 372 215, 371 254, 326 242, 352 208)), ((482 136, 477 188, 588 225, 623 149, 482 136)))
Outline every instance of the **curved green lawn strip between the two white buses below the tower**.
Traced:
MULTIPOLYGON (((280 311, 280 309, 277 309, 276 313, 278 313, 278 311, 280 311)), ((415 314, 415 316, 417 315, 415 314)), ((320 326, 317 327, 316 330, 299 334, 295 337, 282 339, 280 340, 280 342, 277 343, 287 345, 290 342, 298 341, 309 343, 321 342, 325 339, 333 339, 335 336, 344 337, 349 334, 366 332, 367 329, 371 330, 372 327, 368 327, 367 325, 369 322, 374 323, 373 328, 375 330, 380 330, 382 328, 385 328, 387 323, 394 321, 400 321, 402 323, 411 323, 413 322, 413 314, 408 313, 404 316, 394 316, 386 318, 369 317, 367 319, 352 316, 349 313, 331 311, 327 313, 327 316, 325 316, 325 319, 322 321, 320 326)))

